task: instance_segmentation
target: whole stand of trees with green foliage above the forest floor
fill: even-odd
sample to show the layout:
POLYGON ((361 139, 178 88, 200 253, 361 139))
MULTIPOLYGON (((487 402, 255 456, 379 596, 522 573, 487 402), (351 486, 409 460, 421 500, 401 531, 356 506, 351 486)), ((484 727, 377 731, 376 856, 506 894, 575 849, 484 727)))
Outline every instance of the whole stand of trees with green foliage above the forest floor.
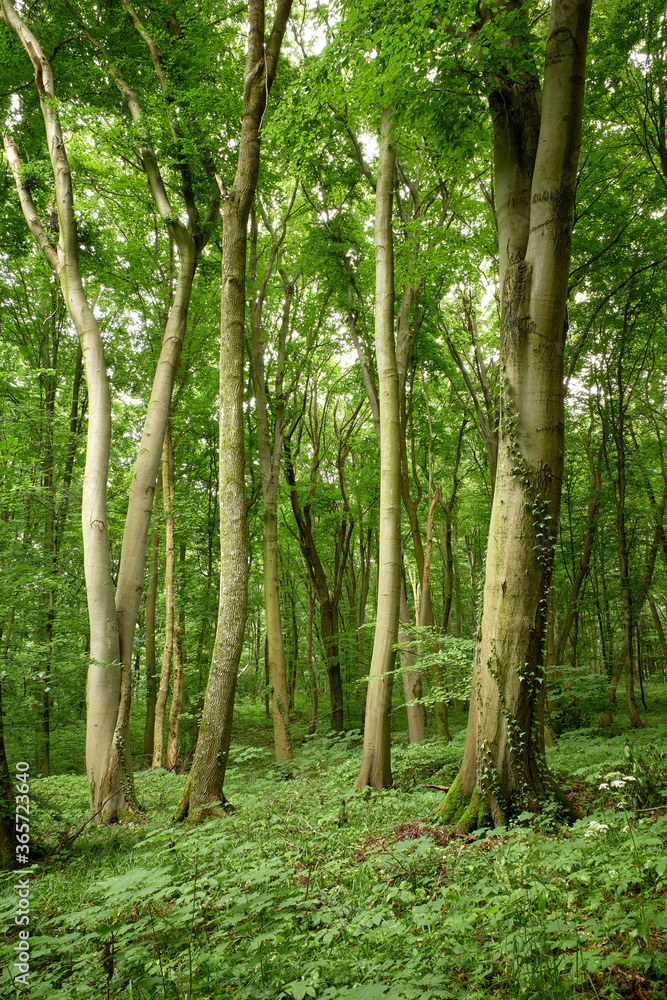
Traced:
POLYGON ((1 6, 3 796, 70 727, 99 821, 223 810, 238 688, 572 813, 667 663, 664 5, 1 6))

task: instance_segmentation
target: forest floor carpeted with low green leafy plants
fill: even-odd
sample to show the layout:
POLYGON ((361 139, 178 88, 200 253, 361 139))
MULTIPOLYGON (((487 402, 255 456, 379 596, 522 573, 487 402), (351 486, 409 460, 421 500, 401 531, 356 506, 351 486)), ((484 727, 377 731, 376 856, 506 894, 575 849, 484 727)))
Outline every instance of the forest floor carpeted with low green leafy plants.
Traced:
MULTIPOLYGON (((17 995, 666 998, 664 689, 647 699, 645 730, 619 714, 549 752, 586 812, 570 828, 548 809, 488 835, 440 825, 463 753, 456 718, 449 744, 410 746, 399 731, 395 786, 356 792, 358 732, 306 738, 297 719, 294 761, 278 765, 263 705, 242 704, 225 782, 235 811, 194 828, 171 823, 185 775, 147 770, 143 818, 88 825, 65 846, 85 822, 85 778, 35 780, 31 829, 54 853, 28 876, 30 988, 17 995)), ((15 881, 0 896, 3 998, 15 881)))

